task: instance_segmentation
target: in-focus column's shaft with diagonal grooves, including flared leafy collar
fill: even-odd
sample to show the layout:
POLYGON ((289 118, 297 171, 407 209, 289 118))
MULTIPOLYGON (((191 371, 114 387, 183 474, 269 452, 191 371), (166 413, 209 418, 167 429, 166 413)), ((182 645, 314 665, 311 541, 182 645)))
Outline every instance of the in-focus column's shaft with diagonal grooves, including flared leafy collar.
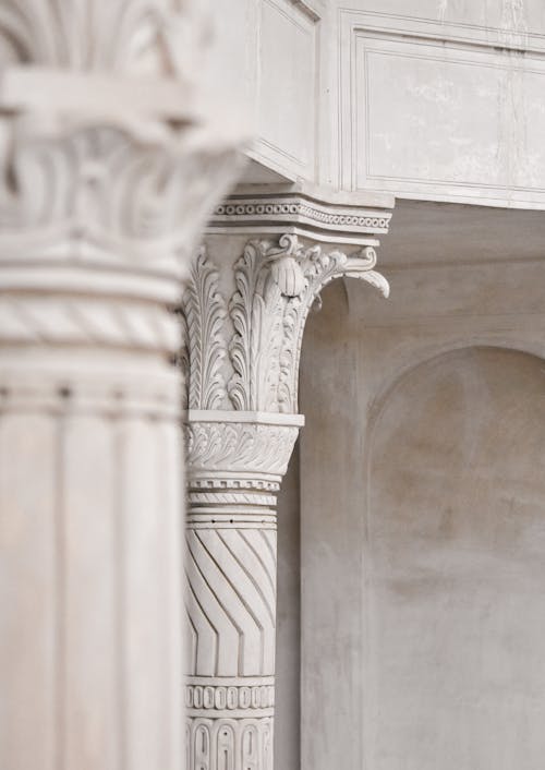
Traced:
POLYGON ((290 417, 190 413, 187 767, 272 768, 276 495, 299 431, 290 417))

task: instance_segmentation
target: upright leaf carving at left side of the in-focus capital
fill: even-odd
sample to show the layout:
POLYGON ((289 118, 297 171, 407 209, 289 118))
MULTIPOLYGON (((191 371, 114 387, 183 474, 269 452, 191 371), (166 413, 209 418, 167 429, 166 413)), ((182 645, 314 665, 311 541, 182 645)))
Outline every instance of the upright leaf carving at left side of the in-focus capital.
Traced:
POLYGON ((190 409, 220 409, 226 396, 222 334, 227 306, 218 285, 218 270, 208 262, 204 248, 199 249, 182 300, 190 409))

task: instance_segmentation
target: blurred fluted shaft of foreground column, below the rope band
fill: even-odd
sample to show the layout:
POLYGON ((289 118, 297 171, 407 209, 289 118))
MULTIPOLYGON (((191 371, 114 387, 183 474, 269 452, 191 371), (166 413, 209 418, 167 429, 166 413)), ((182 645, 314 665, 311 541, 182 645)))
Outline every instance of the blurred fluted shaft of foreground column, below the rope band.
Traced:
POLYGON ((0 767, 179 770, 175 372, 77 348, 0 360, 0 767))

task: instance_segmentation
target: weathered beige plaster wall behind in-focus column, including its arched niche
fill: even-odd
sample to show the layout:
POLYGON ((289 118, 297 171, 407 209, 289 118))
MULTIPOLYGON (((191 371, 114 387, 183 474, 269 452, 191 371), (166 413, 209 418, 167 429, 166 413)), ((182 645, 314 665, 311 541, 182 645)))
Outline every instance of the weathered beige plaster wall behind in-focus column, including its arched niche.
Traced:
POLYGON ((396 301, 334 285, 308 324, 305 769, 542 767, 545 267, 498 216, 400 204, 396 301))

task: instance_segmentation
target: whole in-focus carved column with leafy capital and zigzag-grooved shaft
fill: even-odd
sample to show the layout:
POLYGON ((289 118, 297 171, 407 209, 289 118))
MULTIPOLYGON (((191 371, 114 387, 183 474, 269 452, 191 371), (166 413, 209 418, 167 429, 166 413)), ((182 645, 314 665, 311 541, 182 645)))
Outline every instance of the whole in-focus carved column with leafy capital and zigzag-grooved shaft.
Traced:
POLYGON ((187 382, 190 770, 271 770, 276 495, 303 424, 299 356, 322 288, 374 270, 387 198, 241 191, 220 205, 182 302, 187 382))

